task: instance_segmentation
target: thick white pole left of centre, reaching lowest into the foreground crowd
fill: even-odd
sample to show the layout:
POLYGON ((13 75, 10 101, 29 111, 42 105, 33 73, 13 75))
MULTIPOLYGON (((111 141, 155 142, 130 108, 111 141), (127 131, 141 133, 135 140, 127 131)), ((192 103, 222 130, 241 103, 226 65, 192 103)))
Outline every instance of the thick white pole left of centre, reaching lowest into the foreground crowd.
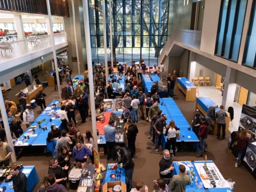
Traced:
POLYGON ((87 66, 88 66, 88 75, 89 75, 92 135, 93 135, 93 140, 94 140, 94 148, 96 150, 98 150, 98 138, 97 138, 97 129, 96 129, 96 111, 95 111, 95 101, 94 101, 94 85, 93 85, 92 62, 91 62, 90 30, 88 30, 88 29, 90 29, 88 0, 83 0, 83 21, 84 21, 87 66))

